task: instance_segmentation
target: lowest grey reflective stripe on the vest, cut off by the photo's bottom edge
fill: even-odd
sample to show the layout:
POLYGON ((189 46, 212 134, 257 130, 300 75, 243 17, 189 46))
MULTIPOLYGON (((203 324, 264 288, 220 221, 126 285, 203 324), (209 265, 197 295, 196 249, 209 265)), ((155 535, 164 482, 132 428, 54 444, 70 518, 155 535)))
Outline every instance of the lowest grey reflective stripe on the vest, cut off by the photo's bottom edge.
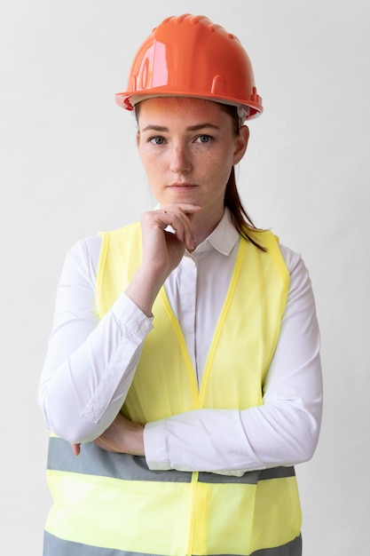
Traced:
MULTIPOLYGON (((161 556, 158 554, 142 554, 141 552, 125 552, 112 548, 99 548, 88 544, 72 543, 52 536, 45 532, 43 538, 43 556, 161 556)), ((209 555, 212 556, 212 555, 209 555)), ((215 555, 216 556, 216 555, 215 555)), ((264 548, 252 554, 217 554, 217 556, 302 556, 301 536, 290 543, 264 548)))

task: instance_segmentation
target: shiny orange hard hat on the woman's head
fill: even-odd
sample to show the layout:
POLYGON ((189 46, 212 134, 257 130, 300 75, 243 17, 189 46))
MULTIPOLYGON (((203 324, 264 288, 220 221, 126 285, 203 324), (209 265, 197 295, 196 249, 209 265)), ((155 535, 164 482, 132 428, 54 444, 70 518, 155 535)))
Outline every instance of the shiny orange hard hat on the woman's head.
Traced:
POLYGON ((202 15, 169 17, 141 44, 127 91, 117 104, 133 110, 151 97, 196 97, 240 108, 251 118, 263 111, 253 68, 236 36, 202 15))

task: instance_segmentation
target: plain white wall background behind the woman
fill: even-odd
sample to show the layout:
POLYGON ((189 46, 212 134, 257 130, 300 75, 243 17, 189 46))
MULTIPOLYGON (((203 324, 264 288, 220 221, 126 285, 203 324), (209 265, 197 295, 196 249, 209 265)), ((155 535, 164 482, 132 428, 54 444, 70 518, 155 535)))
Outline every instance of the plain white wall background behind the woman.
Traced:
POLYGON ((66 251, 153 204, 114 92, 151 29, 184 12, 249 53, 265 111, 250 123, 240 192, 311 271, 326 402, 319 448, 297 468, 304 556, 368 556, 366 0, 0 4, 2 553, 42 553, 48 434, 35 390, 66 251))

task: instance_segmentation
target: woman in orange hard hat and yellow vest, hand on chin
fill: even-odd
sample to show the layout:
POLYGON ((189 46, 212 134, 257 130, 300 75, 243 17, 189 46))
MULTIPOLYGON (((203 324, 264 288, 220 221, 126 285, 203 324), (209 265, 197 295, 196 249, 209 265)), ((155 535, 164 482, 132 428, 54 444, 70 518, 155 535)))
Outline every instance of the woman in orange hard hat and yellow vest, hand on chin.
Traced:
POLYGON ((169 18, 116 99, 158 205, 67 255, 38 392, 44 554, 297 556, 319 329, 302 259, 236 189, 262 111, 248 55, 207 18, 169 18))

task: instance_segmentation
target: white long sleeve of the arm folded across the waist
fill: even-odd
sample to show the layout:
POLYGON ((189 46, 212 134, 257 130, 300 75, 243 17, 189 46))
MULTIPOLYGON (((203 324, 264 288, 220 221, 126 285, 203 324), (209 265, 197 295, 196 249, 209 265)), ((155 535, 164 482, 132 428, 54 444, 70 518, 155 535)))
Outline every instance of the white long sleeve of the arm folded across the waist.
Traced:
POLYGON ((147 424, 146 460, 152 469, 241 474, 311 458, 322 411, 319 327, 303 260, 282 251, 290 289, 263 405, 198 409, 147 424))

